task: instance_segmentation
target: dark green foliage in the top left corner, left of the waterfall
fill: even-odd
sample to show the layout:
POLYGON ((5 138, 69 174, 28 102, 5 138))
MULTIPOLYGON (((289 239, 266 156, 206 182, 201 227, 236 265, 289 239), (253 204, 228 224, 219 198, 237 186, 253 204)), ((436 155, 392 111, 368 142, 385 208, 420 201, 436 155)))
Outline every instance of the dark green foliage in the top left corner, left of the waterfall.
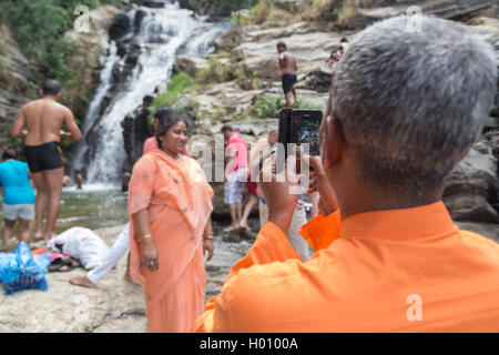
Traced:
POLYGON ((119 6, 119 0, 7 0, 3 18, 9 19, 16 39, 28 59, 37 62, 41 73, 71 87, 77 80, 68 65, 73 47, 62 37, 77 19, 74 9, 94 9, 102 3, 119 6))

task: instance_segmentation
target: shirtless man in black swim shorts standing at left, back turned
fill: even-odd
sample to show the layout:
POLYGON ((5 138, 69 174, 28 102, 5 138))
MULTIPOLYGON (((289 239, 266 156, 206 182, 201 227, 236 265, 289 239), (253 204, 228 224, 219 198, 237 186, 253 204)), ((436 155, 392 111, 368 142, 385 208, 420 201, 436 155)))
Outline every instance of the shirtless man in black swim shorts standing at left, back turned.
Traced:
POLYGON ((45 80, 40 90, 41 99, 24 104, 12 125, 12 136, 24 140, 26 156, 37 186, 34 202, 37 216, 35 240, 48 242, 54 235, 55 221, 61 205, 63 168, 59 142, 61 138, 74 142, 81 132, 71 110, 58 103, 61 85, 55 80, 45 80), (62 131, 62 125, 69 132, 62 131), (24 129, 26 128, 26 129, 24 129), (43 233, 44 212, 49 211, 43 233))

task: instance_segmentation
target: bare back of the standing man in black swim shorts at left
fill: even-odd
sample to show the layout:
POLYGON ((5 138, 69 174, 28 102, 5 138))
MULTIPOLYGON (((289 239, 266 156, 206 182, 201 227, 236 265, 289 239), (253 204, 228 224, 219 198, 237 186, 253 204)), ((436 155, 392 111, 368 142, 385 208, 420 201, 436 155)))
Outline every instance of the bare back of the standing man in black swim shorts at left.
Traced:
POLYGON ((40 145, 48 142, 60 142, 60 131, 71 111, 50 99, 39 99, 22 108, 28 135, 26 145, 40 145))

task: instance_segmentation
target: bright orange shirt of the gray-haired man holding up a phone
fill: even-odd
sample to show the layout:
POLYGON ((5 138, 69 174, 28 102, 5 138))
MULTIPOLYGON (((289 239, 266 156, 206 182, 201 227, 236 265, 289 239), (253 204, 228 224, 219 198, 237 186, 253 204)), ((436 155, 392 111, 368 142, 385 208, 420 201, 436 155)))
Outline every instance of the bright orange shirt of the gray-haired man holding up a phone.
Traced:
POLYGON ((353 215, 340 227, 306 263, 284 235, 263 230, 253 255, 231 272, 218 312, 206 312, 195 329, 499 331, 499 246, 458 231, 441 202, 353 215), (247 267, 249 260, 258 262, 247 267))

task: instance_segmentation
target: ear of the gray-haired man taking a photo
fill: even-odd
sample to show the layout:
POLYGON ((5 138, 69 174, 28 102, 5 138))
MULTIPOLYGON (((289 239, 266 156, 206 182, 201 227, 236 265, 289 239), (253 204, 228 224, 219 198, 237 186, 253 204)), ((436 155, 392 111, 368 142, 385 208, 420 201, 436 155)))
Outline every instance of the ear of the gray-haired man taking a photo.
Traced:
POLYGON ((324 168, 328 170, 334 169, 343 159, 345 135, 342 123, 335 116, 328 115, 325 120, 324 168))

